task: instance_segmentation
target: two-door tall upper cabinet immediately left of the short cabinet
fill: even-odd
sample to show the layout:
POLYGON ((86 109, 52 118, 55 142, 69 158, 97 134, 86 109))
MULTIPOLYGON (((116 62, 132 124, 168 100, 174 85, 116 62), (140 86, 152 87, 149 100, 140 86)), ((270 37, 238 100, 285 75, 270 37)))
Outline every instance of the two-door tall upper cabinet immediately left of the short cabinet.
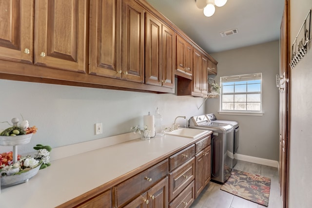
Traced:
POLYGON ((174 88, 175 32, 150 13, 145 17, 145 83, 174 88))

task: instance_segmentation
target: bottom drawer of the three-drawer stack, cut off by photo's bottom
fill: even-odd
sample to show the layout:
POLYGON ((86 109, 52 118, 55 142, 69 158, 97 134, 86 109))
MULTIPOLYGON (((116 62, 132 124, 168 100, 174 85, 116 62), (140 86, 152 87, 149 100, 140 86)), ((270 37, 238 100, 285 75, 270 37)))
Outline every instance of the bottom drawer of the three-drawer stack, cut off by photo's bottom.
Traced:
POLYGON ((194 181, 190 183, 172 203, 169 208, 189 208, 195 200, 194 181))

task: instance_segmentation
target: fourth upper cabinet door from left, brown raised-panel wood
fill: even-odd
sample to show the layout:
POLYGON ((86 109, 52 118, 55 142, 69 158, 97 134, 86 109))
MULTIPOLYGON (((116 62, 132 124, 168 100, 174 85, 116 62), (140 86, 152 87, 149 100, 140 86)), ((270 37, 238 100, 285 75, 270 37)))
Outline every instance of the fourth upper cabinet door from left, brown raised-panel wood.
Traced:
POLYGON ((144 9, 134 0, 122 0, 121 78, 144 82, 144 9))

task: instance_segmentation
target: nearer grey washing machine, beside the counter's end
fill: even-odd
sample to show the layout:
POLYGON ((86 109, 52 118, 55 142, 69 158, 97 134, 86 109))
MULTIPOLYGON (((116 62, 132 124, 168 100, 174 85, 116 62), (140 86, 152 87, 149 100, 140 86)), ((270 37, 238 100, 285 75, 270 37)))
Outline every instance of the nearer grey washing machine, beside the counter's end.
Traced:
POLYGON ((190 118, 189 128, 213 131, 211 140, 211 179, 224 183, 233 170, 233 126, 210 122, 206 115, 199 115, 190 118))

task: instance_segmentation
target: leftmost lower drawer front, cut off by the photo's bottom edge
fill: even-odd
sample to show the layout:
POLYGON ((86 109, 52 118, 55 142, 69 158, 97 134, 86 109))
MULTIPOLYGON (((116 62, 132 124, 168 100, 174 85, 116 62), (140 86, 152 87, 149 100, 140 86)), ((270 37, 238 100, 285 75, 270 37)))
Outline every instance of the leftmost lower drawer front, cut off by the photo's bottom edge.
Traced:
POLYGON ((90 199, 89 201, 75 207, 75 208, 110 208, 112 207, 112 195, 111 190, 107 190, 104 193, 90 199))

